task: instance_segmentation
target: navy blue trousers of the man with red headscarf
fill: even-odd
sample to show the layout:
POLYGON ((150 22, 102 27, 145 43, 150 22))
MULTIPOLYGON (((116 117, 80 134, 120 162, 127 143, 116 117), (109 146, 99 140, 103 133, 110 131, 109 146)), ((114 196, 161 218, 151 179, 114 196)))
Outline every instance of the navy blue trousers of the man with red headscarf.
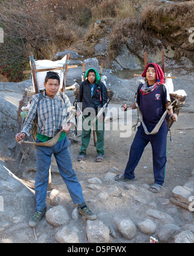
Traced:
MULTIPOLYGON (((149 132, 151 132, 152 129, 153 127, 151 126, 147 127, 147 130, 149 130, 149 132)), ((131 145, 129 161, 125 168, 124 176, 129 179, 135 178, 135 168, 140 161, 140 158, 144 152, 144 148, 150 142, 153 151, 153 172, 155 177, 155 183, 163 185, 166 167, 166 141, 166 125, 162 125, 157 134, 146 135, 142 124, 140 124, 140 126, 138 126, 135 139, 131 145)))

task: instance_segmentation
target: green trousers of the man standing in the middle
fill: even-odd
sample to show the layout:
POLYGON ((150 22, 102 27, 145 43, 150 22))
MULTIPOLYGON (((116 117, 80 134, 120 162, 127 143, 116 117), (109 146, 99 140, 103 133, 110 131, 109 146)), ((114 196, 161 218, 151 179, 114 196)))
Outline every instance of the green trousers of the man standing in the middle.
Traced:
MULTIPOLYGON (((90 139, 91 139, 91 123, 87 122, 87 116, 84 116, 82 118, 82 134, 81 134, 81 148, 80 148, 80 155, 86 155, 86 150, 89 145, 90 139), (88 126, 87 126, 88 124, 88 126)), ((94 124, 95 126, 95 124, 94 124)), ((100 122, 99 120, 96 120, 96 127, 94 127, 96 130, 96 151, 98 154, 104 155, 104 122, 100 122)))

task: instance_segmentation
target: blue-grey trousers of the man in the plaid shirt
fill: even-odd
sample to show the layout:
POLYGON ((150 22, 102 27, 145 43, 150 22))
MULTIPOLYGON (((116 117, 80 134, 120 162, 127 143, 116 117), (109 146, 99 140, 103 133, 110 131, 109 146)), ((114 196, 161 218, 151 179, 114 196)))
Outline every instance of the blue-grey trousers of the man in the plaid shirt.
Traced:
MULTIPOLYGON (((40 142, 37 139, 38 142, 40 142)), ((58 164, 59 172, 67 185, 70 197, 74 204, 84 202, 81 185, 76 176, 76 172, 72 169, 72 161, 69 154, 69 139, 58 141, 54 146, 37 146, 36 148, 36 209, 43 211, 47 199, 48 175, 51 163, 51 156, 54 154, 58 164)))

